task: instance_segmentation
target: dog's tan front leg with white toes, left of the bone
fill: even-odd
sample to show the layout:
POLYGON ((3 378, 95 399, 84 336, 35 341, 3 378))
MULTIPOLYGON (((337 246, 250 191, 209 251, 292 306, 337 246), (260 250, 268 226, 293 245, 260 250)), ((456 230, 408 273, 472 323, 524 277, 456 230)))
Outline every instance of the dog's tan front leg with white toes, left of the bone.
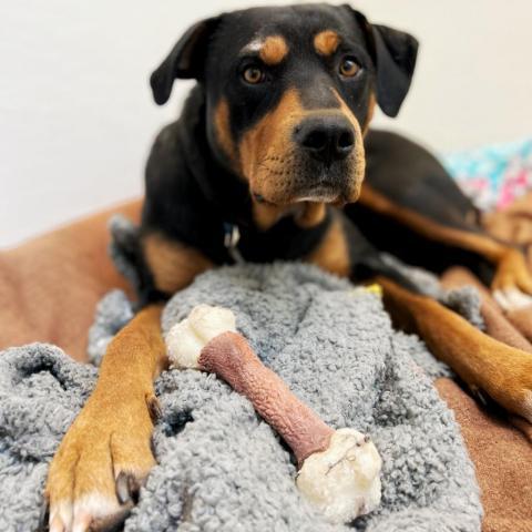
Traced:
POLYGON ((155 464, 153 380, 166 365, 161 306, 141 310, 110 344, 94 392, 50 466, 51 532, 83 532, 123 520, 155 464))

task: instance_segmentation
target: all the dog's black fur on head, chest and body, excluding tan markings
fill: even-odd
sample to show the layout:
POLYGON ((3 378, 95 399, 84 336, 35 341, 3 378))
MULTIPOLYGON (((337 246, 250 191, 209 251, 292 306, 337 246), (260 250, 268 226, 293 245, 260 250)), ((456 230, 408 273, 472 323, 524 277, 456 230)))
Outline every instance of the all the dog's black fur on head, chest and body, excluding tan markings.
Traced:
MULTIPOLYGON (((228 101, 235 142, 276 106, 289 86, 296 86, 304 104, 311 109, 337 106, 337 102, 330 101, 330 91, 323 90, 332 83, 360 124, 368 117, 369 95, 374 91, 385 113, 395 116, 410 86, 417 49, 411 35, 371 25, 348 6, 255 8, 193 25, 151 78, 154 99, 160 104, 168 100, 175 79, 195 78, 197 85, 181 117, 160 133, 150 154, 142 233, 157 232, 193 246, 215 264, 233 262, 224 246, 226 224, 238 226, 238 248, 246 260, 300 259, 309 255, 327 232, 334 207, 327 207, 326 218, 308 229, 299 227, 288 215, 268 231, 260 231, 253 218, 248 183, 231 170, 214 133, 216 104, 221 98, 228 101), (328 29, 340 33, 342 43, 327 62, 310 53, 305 43, 310 35, 328 29), (249 58, 242 58, 239 52, 260 32, 284 35, 290 54, 268 71, 270 81, 252 90, 241 80, 249 58), (361 65, 361 73, 352 80, 340 80, 331 73, 338 57, 345 53, 361 65)), ((406 206, 421 205, 423 214, 440 223, 471 229, 466 223, 471 204, 423 149, 393 134, 372 133, 367 136, 366 150, 366 178, 377 190, 406 206)), ((427 243, 420 242, 419 236, 401 227, 390 228, 387 221, 359 205, 349 206, 345 213, 342 224, 349 236, 356 280, 381 274, 411 288, 408 280, 380 260, 378 249, 434 270, 443 264, 442 256, 478 265, 478 257, 457 257, 456 249, 439 244, 424 247, 427 243), (432 259, 436 257, 438 260, 432 259)), ((150 279, 149 273, 144 278, 150 279)), ((151 287, 146 294, 157 291, 151 287)))

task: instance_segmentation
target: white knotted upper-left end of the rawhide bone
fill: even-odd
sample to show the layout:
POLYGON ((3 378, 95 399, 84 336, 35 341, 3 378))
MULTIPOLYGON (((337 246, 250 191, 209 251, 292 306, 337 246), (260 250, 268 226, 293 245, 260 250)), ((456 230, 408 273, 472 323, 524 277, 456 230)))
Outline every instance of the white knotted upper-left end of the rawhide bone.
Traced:
POLYGON ((173 366, 198 369, 202 349, 216 336, 236 332, 235 315, 223 307, 197 305, 183 321, 166 335, 166 349, 173 366))

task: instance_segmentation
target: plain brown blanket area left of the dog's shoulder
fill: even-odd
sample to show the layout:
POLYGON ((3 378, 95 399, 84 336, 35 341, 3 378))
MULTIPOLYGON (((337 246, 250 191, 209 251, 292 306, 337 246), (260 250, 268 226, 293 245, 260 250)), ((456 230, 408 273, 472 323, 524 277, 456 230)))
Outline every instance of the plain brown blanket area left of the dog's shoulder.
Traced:
POLYGON ((109 218, 139 212, 140 202, 120 205, 0 252, 0 349, 49 341, 84 360, 95 304, 126 288, 108 257, 109 218))

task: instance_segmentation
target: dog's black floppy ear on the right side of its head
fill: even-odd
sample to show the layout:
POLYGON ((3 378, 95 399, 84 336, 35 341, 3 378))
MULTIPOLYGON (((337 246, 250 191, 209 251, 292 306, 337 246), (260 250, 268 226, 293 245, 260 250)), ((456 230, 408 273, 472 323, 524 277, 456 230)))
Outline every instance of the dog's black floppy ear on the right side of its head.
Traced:
POLYGON ((410 89, 419 43, 403 31, 370 24, 362 13, 349 9, 366 32, 377 70, 377 102, 388 116, 397 116, 410 89))

